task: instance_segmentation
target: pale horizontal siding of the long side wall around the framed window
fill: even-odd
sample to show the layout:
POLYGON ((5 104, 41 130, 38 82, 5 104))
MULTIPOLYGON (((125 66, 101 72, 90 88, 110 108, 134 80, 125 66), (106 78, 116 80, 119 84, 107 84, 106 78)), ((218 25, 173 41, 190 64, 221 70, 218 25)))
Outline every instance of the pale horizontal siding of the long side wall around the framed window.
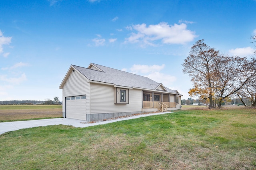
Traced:
POLYGON ((114 87, 91 83, 90 89, 91 114, 142 111, 141 90, 129 89, 128 104, 114 104, 114 87))

